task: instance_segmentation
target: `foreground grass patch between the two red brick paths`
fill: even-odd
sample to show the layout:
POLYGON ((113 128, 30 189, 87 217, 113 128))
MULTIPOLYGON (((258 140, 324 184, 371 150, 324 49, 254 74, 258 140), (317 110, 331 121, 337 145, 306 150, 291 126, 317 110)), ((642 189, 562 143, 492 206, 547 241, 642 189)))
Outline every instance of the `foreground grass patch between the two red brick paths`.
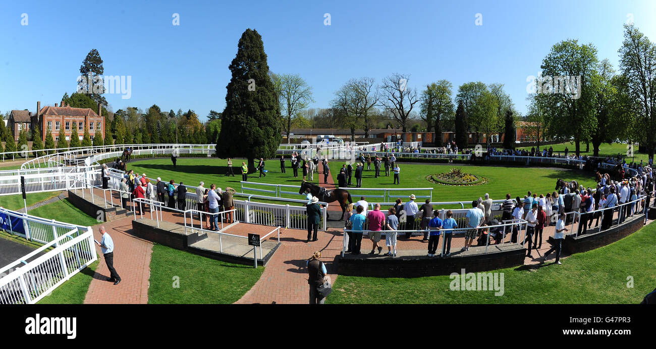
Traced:
POLYGON ((264 267, 245 266, 153 245, 150 260, 151 304, 230 304, 260 278, 264 267), (179 285, 179 287, 175 287, 179 285))

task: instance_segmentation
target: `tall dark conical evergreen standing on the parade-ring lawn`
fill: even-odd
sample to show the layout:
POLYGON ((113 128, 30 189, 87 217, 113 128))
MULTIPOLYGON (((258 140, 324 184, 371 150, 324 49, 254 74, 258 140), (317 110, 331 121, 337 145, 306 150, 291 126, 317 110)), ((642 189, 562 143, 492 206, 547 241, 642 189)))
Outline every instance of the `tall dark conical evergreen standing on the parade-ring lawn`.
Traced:
POLYGON ((249 171, 255 171, 253 159, 275 157, 281 139, 278 96, 256 30, 247 29, 241 35, 230 72, 216 154, 246 157, 249 171))

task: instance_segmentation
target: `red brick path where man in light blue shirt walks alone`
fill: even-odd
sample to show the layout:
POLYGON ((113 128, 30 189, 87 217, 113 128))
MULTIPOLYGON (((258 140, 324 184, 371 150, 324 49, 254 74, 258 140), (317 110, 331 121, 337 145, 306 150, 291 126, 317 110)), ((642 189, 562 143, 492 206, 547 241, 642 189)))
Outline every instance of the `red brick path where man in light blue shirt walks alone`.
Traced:
POLYGON ((100 247, 96 251, 100 264, 93 276, 85 304, 146 304, 148 303, 148 279, 152 243, 130 234, 132 216, 98 224, 93 228, 94 239, 100 241, 100 225, 104 225, 114 241, 114 268, 121 276, 121 283, 114 285, 105 279, 110 272, 100 247))

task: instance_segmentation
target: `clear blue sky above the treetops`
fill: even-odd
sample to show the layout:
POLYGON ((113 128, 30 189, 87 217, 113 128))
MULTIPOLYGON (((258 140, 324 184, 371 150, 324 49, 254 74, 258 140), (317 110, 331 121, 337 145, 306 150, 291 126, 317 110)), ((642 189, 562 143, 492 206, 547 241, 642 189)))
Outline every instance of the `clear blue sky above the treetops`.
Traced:
POLYGON ((157 104, 202 120, 223 110, 237 41, 254 28, 270 70, 312 85, 312 108, 352 77, 398 72, 418 89, 448 79, 454 94, 468 81, 503 83, 525 113, 526 77, 558 41, 593 43, 617 68, 628 14, 656 41, 656 1, 3 1, 0 111, 60 102, 97 49, 105 75, 132 76, 130 99, 106 95, 114 111, 157 104))

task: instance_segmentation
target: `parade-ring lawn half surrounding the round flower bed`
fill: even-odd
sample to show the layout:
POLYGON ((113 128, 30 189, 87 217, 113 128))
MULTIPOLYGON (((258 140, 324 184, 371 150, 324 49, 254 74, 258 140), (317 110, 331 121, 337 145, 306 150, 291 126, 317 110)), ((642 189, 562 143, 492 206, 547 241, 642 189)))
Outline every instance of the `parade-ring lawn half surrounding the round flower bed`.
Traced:
MULTIPOLYGON (((335 183, 337 183, 337 174, 343 162, 333 162, 331 172, 335 183)), ((469 201, 482 197, 485 193, 490 194, 492 199, 505 199, 506 194, 510 193, 512 198, 524 197, 528 190, 533 193, 546 194, 554 192, 558 178, 564 180, 577 180, 584 186, 594 186, 594 177, 591 173, 585 171, 574 171, 555 168, 539 167, 503 167, 503 166, 469 166, 469 165, 407 165, 398 163, 400 172, 400 185, 392 184, 394 182, 394 173, 390 171, 390 176, 384 176, 384 167, 380 173, 383 176, 375 178, 373 165, 371 171, 363 171, 362 188, 434 188, 433 201, 469 201), (472 173, 476 176, 487 178, 488 182, 476 186, 448 186, 443 184, 434 184, 426 179, 426 176, 434 173, 446 173, 454 167, 459 167, 464 173, 472 173)), ((365 167, 366 169, 366 167, 365 167)), ((355 174, 352 177, 352 184, 355 184, 355 174)), ((357 201, 361 194, 373 194, 373 192, 352 190, 351 196, 357 201)), ((401 197, 403 202, 407 201, 410 192, 400 192, 393 197, 401 197)), ((419 192, 414 193, 419 195, 419 192)), ((426 195, 424 192, 422 195, 426 195)), ((378 199, 368 200, 370 202, 379 201, 378 199)), ((394 201, 394 200, 392 200, 394 201)), ((417 200, 421 202, 423 200, 417 200)))

